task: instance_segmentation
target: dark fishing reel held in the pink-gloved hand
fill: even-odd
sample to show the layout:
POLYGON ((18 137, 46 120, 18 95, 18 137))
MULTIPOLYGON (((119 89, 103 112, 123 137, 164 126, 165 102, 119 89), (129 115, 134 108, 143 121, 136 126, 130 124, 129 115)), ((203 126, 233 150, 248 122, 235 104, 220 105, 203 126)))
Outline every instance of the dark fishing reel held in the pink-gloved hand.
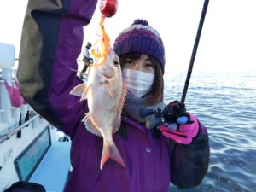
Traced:
POLYGON ((148 129, 173 123, 186 124, 189 121, 185 104, 177 101, 170 102, 162 110, 160 108, 157 110, 141 108, 140 116, 146 118, 146 127, 148 129))

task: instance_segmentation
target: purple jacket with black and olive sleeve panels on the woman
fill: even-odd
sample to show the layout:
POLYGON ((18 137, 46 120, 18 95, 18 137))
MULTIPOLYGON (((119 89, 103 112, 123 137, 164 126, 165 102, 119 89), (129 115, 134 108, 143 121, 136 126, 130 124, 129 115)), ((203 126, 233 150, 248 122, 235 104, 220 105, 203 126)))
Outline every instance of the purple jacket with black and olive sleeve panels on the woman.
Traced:
MULTIPOLYGON (((207 131, 201 125, 194 141, 177 145, 125 116, 113 135, 125 168, 108 160, 100 170, 102 137, 84 129, 87 103, 69 92, 81 80, 77 69, 83 26, 96 0, 29 1, 20 45, 18 79, 26 101, 52 125, 72 138, 71 173, 66 192, 167 192, 201 183, 209 160, 207 131)), ((57 182, 57 181, 56 181, 57 182)))

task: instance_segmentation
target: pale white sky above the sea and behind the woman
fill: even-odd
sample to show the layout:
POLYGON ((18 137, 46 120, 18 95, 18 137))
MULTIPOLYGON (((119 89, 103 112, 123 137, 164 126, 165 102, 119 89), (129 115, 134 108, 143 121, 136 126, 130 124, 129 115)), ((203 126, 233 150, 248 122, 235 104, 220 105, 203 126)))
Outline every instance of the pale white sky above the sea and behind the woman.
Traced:
MULTIPOLYGON (((105 29, 113 44, 119 32, 133 20, 148 20, 165 44, 166 73, 187 71, 203 3, 203 0, 119 0, 116 15, 105 20, 105 29)), ((0 0, 0 42, 14 44, 16 58, 26 4, 27 0, 0 0)), ((255 0, 210 0, 193 72, 256 71, 255 9, 255 0)), ((84 44, 96 42, 100 15, 97 5, 90 24, 84 26, 84 44)))

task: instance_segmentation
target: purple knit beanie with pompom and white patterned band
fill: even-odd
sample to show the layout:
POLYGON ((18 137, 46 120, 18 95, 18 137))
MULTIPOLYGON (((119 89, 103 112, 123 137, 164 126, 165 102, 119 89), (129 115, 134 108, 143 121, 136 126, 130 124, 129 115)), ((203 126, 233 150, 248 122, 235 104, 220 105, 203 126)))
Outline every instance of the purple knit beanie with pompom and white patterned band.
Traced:
POLYGON ((148 25, 147 20, 135 20, 130 27, 123 30, 115 39, 113 49, 117 55, 140 52, 154 56, 165 72, 165 47, 160 34, 148 25))

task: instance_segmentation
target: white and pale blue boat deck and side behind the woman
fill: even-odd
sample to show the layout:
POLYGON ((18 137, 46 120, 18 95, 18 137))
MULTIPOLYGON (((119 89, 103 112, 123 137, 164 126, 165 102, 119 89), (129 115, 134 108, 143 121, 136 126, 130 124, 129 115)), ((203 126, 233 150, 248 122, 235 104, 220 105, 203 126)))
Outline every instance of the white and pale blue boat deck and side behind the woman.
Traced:
POLYGON ((15 46, 0 43, 0 52, 0 192, 19 181, 61 192, 71 170, 70 139, 19 96, 15 46))

